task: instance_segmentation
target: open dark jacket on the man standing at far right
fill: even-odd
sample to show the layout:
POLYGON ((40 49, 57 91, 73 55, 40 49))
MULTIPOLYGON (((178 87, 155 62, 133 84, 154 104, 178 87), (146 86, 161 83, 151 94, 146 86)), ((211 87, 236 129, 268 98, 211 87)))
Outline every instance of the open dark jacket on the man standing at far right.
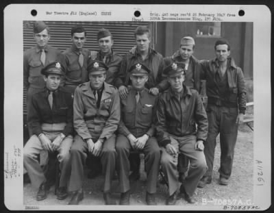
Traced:
POLYGON ((216 82, 215 75, 219 71, 217 59, 203 61, 203 72, 201 77, 206 79, 206 92, 208 103, 221 101, 224 105, 238 106, 240 113, 245 114, 247 103, 247 89, 242 69, 236 66, 232 58, 227 59, 227 83, 229 91, 226 97, 220 97, 219 86, 216 82))

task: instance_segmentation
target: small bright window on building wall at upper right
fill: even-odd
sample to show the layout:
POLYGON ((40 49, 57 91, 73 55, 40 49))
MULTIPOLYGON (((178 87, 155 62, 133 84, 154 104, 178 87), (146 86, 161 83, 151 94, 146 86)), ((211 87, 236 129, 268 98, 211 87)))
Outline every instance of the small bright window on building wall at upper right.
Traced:
POLYGON ((221 22, 199 22, 197 23, 197 37, 212 36, 221 37, 221 22))

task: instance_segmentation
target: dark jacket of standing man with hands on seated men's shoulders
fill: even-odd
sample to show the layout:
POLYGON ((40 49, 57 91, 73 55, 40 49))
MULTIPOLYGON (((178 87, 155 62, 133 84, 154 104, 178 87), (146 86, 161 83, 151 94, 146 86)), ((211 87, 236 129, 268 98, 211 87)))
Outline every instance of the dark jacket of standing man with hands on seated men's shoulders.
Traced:
POLYGON ((169 88, 169 82, 167 82, 166 76, 163 75, 164 70, 164 58, 158 52, 153 49, 149 49, 149 54, 145 60, 142 60, 142 55, 136 51, 135 53, 127 53, 121 63, 121 68, 118 73, 118 77, 115 81, 115 86, 119 88, 120 86, 129 86, 130 73, 129 68, 136 64, 137 62, 142 62, 150 70, 149 80, 145 84, 146 88, 158 88, 160 92, 169 88))

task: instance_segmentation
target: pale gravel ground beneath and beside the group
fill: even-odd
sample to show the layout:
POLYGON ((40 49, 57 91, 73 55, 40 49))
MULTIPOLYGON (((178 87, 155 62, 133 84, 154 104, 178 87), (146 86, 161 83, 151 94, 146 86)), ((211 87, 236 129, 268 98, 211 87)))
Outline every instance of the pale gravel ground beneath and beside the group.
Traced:
MULTIPOLYGON (((232 176, 228 186, 221 186, 218 183, 219 179, 219 162, 220 162, 220 147, 219 138, 217 139, 217 147, 215 151, 214 173, 212 184, 208 184, 205 188, 198 188, 195 192, 195 204, 188 204, 182 197, 178 197, 176 205, 185 205, 188 207, 197 206, 206 208, 214 208, 216 202, 223 202, 225 199, 247 201, 253 199, 253 131, 246 125, 241 126, 238 131, 238 141, 234 153, 234 167, 232 176), (215 199, 215 201, 214 201, 215 199), (205 204, 206 201, 209 201, 205 204), (213 201, 213 202, 210 202, 213 201)), ((146 205, 145 203, 145 179, 143 164, 141 165, 141 177, 138 181, 131 184, 131 205, 146 205)), ((87 171, 86 171, 87 172, 87 171)), ((113 182, 112 198, 119 204, 118 181, 113 182)), ((84 200, 80 205, 104 205, 103 193, 103 176, 95 179, 84 180, 84 200)), ((36 201, 36 190, 30 184, 24 184, 23 204, 24 205, 66 205, 71 197, 59 201, 54 195, 54 186, 51 187, 47 199, 36 201)), ((158 205, 164 205, 167 197, 166 186, 158 183, 158 191, 155 195, 155 200, 158 205)), ((224 204, 224 203, 223 203, 224 204)), ((222 205, 223 206, 223 205, 222 205)), ((220 209, 220 208, 219 208, 220 209)))

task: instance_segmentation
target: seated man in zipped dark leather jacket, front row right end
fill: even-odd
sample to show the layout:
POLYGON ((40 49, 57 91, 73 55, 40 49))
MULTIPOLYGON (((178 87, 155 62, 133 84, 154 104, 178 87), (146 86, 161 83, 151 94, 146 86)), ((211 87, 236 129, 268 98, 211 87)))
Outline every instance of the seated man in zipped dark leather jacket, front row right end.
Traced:
POLYGON ((162 171, 169 184, 166 204, 175 205, 176 202, 179 180, 175 156, 179 152, 190 160, 188 176, 183 181, 180 192, 188 203, 194 203, 192 195, 207 169, 203 142, 208 134, 208 118, 197 90, 184 84, 182 65, 173 62, 164 69, 164 73, 168 75, 171 87, 159 97, 156 136, 162 150, 162 171))

